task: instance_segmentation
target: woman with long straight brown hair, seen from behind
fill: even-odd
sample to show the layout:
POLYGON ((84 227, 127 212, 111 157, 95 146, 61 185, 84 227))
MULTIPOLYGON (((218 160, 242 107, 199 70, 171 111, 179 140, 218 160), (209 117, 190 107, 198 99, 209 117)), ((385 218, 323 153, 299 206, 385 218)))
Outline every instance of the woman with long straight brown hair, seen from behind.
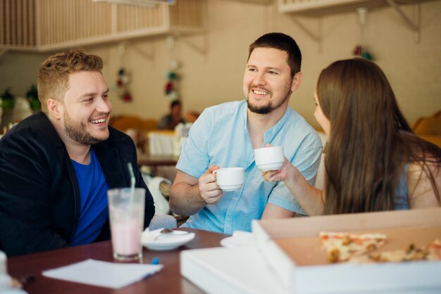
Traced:
POLYGON ((309 215, 440 207, 441 149, 412 133, 378 65, 332 63, 314 101, 328 140, 323 190, 288 160, 267 181, 283 181, 309 215))

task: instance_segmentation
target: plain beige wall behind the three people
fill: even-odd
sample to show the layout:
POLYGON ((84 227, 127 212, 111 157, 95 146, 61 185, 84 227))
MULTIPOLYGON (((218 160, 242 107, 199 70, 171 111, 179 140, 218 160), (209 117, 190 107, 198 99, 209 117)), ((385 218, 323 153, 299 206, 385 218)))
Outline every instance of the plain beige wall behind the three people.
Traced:
MULTIPOLYGON (((202 111, 225 101, 239 100, 248 46, 266 32, 290 34, 303 54, 302 86, 292 95, 290 105, 313 126, 313 91, 320 71, 331 62, 352 58, 359 42, 359 18, 356 12, 326 15, 322 18, 299 17, 302 25, 318 34, 314 41, 294 22, 294 15, 278 13, 274 5, 261 6, 238 1, 208 3, 209 30, 185 39, 176 39, 173 58, 180 61, 180 94, 184 110, 202 111), (189 45, 191 44, 191 46, 189 45), (204 49, 201 53, 192 48, 204 49)), ((402 6, 414 18, 416 6, 402 6)), ((385 71, 395 90, 404 115, 413 122, 421 115, 441 109, 441 1, 421 4, 420 41, 392 8, 371 11, 367 15, 365 39, 368 51, 385 71)), ((130 90, 134 101, 123 103, 111 93, 114 113, 135 113, 159 118, 168 110, 163 87, 172 58, 166 37, 130 41, 121 58, 118 44, 85 48, 104 59, 104 77, 115 84, 123 65, 132 75, 130 90), (149 57, 145 57, 149 56, 149 57)), ((0 91, 8 86, 24 95, 35 82, 39 63, 48 54, 6 53, 0 58, 0 91)))

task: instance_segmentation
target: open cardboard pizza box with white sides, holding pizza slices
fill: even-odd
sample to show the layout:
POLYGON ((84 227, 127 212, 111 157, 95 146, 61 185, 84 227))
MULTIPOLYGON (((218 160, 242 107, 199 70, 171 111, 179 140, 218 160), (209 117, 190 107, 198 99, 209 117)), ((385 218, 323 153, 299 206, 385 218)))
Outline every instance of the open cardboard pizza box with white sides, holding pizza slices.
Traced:
POLYGON ((441 262, 331 264, 321 231, 387 235, 375 252, 441 238, 441 208, 266 219, 252 224, 256 244, 286 293, 441 293, 441 262))

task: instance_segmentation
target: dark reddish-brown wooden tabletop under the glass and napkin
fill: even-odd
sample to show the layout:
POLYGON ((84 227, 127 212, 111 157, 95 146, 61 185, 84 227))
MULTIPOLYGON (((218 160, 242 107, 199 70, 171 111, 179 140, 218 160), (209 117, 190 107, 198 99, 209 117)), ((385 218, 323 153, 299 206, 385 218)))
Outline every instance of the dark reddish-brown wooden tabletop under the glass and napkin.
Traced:
POLYGON ((11 257, 8 259, 8 273, 16 279, 27 275, 35 276, 34 281, 30 281, 25 285, 24 290, 29 294, 204 293, 181 276, 180 252, 187 249, 218 247, 221 239, 228 235, 196 229, 183 230, 193 231, 196 236, 190 243, 176 250, 159 252, 144 248, 142 261, 149 263, 154 257, 158 257, 159 262, 164 266, 159 273, 120 289, 100 288, 42 276, 42 271, 46 269, 63 267, 89 258, 113 262, 111 241, 11 257))

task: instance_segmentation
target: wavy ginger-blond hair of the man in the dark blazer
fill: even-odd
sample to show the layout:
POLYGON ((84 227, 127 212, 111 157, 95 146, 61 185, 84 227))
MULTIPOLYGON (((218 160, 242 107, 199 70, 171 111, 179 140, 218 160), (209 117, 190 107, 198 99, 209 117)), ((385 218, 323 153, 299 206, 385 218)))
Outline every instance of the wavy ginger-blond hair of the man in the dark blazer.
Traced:
POLYGON ((96 55, 88 55, 81 50, 68 50, 49 56, 38 71, 37 91, 44 113, 48 112, 47 100, 62 101, 68 89, 69 75, 73 72, 101 72, 103 60, 96 55))

